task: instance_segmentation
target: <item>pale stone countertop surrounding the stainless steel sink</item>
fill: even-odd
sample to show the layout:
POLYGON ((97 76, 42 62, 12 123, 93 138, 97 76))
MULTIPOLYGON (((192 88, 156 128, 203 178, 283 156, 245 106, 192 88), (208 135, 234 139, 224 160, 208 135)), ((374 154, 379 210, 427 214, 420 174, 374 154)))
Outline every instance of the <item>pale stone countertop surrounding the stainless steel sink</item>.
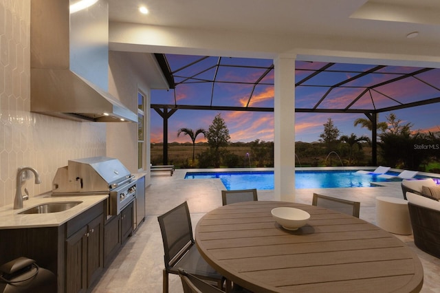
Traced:
POLYGON ((0 207, 0 230, 17 228, 40 228, 61 226, 69 219, 84 213, 86 210, 107 199, 109 195, 83 195, 83 196, 51 196, 44 193, 36 197, 30 197, 23 201, 23 208, 14 210, 14 204, 0 207), (51 202, 82 202, 73 208, 58 213, 23 214, 23 210, 51 202))

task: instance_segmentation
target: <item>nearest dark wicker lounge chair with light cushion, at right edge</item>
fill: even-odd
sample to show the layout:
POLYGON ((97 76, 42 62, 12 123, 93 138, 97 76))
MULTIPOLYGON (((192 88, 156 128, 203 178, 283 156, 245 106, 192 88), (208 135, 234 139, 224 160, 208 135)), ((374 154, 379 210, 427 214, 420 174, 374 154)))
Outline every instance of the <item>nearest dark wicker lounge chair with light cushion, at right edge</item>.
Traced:
POLYGON ((440 202, 415 193, 406 197, 415 246, 440 258, 440 202))

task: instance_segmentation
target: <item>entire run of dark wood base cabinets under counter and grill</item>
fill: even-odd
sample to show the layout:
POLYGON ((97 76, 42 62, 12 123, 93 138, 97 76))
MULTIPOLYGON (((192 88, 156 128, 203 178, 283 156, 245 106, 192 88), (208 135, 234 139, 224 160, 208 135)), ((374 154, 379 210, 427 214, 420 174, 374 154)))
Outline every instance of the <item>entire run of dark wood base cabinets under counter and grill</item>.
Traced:
POLYGON ((0 230, 0 264, 29 257, 56 275, 59 293, 87 292, 133 232, 133 202, 104 223, 105 210, 100 202, 61 226, 0 230))

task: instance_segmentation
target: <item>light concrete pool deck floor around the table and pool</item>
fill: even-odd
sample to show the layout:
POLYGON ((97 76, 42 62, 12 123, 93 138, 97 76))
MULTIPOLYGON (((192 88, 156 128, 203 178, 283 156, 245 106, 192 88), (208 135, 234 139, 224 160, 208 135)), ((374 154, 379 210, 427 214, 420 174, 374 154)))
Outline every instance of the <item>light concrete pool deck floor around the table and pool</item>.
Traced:
MULTIPOLYGON (((188 201, 192 227, 195 228, 197 221, 205 213, 221 206, 221 190, 225 189, 219 179, 185 180, 187 171, 195 171, 195 169, 177 169, 173 176, 166 172, 151 175, 151 185, 148 186, 146 193, 145 222, 129 238, 92 292, 162 292, 164 250, 157 216, 188 201)), ((221 169, 221 171, 226 170, 221 169)), ((381 185, 383 186, 296 189, 295 201, 311 204, 313 193, 355 200, 361 202, 360 219, 375 224, 375 197, 403 198, 400 182, 381 182, 381 185)), ((274 199, 274 191, 258 191, 258 193, 259 200, 274 199)), ((439 293, 440 259, 415 247, 412 235, 395 236, 414 250, 421 260, 424 271, 421 292, 439 293)), ((170 292, 183 292, 179 276, 170 274, 170 292)))

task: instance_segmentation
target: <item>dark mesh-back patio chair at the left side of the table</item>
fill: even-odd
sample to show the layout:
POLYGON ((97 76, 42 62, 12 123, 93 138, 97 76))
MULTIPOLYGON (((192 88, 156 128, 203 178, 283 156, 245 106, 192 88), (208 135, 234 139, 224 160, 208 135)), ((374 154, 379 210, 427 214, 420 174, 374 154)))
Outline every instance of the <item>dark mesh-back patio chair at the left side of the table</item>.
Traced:
POLYGON ((157 217, 164 242, 164 293, 168 293, 168 274, 179 274, 178 268, 201 279, 217 283, 220 289, 225 280, 201 257, 195 246, 188 203, 184 202, 157 217))

